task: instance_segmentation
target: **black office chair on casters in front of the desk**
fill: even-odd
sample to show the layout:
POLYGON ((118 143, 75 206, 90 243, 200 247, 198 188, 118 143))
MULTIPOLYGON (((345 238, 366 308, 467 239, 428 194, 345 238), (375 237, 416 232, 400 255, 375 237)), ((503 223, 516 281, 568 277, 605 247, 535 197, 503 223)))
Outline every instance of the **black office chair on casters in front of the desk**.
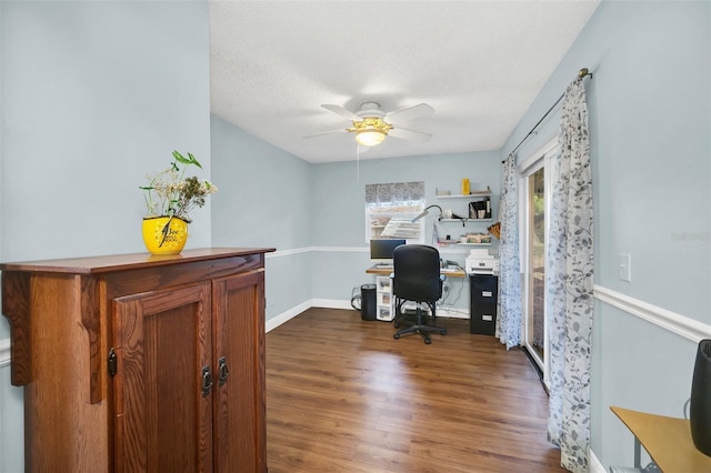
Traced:
POLYGON ((393 254, 392 294, 395 296, 395 322, 398 328, 402 319, 402 305, 407 301, 417 303, 417 319, 412 326, 399 330, 397 340, 408 333, 419 333, 424 343, 430 344, 430 333, 447 333, 443 326, 437 326, 435 305, 442 296, 444 276, 440 274, 440 252, 423 244, 403 244, 395 248, 393 254), (430 308, 433 325, 423 323, 422 304, 430 308))

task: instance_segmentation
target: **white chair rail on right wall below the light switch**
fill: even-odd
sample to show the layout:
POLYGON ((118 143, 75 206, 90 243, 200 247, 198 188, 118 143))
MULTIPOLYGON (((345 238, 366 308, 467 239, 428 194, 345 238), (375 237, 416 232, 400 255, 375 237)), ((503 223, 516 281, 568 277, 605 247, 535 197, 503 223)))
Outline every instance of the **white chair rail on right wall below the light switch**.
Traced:
POLYGON ((594 298, 677 335, 691 340, 694 343, 711 338, 711 325, 709 324, 640 301, 639 299, 631 298, 611 289, 595 284, 594 298))

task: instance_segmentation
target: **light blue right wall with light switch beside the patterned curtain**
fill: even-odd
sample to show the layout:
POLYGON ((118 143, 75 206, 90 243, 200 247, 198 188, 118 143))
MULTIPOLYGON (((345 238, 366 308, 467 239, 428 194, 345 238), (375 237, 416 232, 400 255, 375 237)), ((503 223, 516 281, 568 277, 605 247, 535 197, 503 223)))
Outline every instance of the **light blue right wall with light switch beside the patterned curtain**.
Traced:
MULTIPOLYGON (((511 150, 588 67, 595 283, 711 324, 711 3, 603 1, 527 117, 511 150), (632 281, 618 255, 632 255, 632 281)), ((518 153, 554 134, 557 119, 518 153), (551 131, 552 130, 552 131, 551 131)), ((620 405, 683 416, 695 343, 597 301, 592 449, 632 464, 620 405)))

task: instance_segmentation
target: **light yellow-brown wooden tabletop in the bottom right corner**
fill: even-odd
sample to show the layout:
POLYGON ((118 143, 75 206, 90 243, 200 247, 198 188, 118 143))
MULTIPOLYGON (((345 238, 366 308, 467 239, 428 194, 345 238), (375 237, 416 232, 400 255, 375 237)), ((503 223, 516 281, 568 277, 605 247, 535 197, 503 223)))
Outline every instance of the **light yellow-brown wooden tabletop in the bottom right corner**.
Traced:
POLYGON ((634 434, 634 467, 641 467, 642 444, 664 473, 711 471, 711 456, 694 446, 688 419, 665 417, 615 406, 610 406, 610 410, 634 434))

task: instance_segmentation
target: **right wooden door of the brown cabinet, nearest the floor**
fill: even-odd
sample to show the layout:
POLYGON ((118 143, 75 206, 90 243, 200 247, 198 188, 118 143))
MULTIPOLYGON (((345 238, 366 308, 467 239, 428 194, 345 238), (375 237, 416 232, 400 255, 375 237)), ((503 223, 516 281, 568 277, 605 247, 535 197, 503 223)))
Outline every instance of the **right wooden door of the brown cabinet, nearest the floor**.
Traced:
POLYGON ((264 273, 214 281, 216 472, 266 472, 264 273))

